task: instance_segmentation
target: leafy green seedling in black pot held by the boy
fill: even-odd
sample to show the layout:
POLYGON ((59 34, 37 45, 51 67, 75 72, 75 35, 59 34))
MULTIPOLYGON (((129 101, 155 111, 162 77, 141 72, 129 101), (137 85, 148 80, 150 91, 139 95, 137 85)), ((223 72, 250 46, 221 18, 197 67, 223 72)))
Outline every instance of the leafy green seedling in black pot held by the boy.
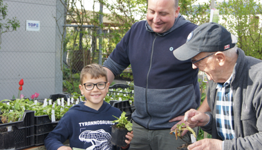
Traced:
MULTIPOLYGON (((114 116, 115 117, 115 116, 114 116)), ((118 147, 125 147, 127 145, 124 140, 129 140, 126 138, 127 132, 132 131, 132 123, 127 120, 126 112, 122 112, 120 118, 117 118, 117 120, 113 120, 113 122, 116 122, 118 124, 112 125, 112 131, 111 131, 111 143, 113 145, 117 145, 118 147)))

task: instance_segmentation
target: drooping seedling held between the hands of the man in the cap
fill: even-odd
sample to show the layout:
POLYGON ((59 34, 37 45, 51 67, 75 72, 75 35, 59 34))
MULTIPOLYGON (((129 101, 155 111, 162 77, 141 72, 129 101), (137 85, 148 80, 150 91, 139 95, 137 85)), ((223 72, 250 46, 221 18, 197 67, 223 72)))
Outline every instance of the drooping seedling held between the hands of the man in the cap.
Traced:
MULTIPOLYGON (((196 133, 195 133, 195 131, 194 131, 193 129, 191 129, 191 127, 185 126, 184 123, 182 123, 181 125, 177 125, 177 126, 176 126, 176 129, 175 129, 174 131, 171 131, 170 134, 173 134, 173 133, 174 133, 174 134, 176 135, 176 140, 178 140, 178 138, 180 138, 181 140, 183 140, 183 136, 181 135, 181 133, 182 133, 184 130, 190 131, 190 132, 193 134, 194 138, 196 139, 196 133)), ((191 139, 191 140, 192 140, 192 139, 191 139)), ((189 143, 189 142, 187 142, 187 141, 185 141, 185 140, 183 140, 183 141, 186 142, 186 144, 182 144, 180 147, 177 147, 177 149, 179 149, 179 150, 187 150, 187 147, 188 147, 189 144, 191 144, 191 143, 189 143)), ((192 142, 193 142, 193 141, 192 141, 192 142)))

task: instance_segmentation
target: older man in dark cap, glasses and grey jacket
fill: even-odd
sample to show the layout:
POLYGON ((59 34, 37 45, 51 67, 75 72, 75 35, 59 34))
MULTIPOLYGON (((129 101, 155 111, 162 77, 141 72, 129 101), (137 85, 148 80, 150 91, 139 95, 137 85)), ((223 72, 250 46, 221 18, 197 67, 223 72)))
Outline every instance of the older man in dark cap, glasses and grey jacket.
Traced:
MULTIPOLYGON (((194 142, 188 149, 262 148, 262 61, 245 56, 236 37, 218 23, 204 23, 174 51, 181 61, 207 74, 207 102, 211 112, 190 109, 185 120, 212 138, 194 142)), ((252 44, 252 43, 250 43, 252 44)))

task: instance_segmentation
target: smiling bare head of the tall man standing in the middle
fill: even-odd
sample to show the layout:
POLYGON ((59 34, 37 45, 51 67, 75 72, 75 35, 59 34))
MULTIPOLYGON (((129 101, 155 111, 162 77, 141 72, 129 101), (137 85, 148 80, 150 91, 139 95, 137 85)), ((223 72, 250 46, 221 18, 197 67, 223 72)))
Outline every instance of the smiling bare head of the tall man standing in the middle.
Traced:
POLYGON ((147 22, 154 32, 166 32, 174 25, 179 10, 174 0, 149 0, 147 22))

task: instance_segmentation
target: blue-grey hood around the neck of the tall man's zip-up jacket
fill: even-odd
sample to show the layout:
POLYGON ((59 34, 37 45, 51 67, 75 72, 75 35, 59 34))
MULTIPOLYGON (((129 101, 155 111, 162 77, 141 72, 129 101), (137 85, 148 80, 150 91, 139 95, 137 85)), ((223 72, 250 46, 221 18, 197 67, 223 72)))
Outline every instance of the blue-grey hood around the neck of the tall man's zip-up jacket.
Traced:
MULTIPOLYGON (((175 19, 175 23, 174 25, 169 29, 167 30, 166 32, 164 33, 156 33, 160 36, 165 36, 166 34, 169 34, 170 32, 176 30, 177 28, 179 28, 180 26, 184 25, 185 23, 191 23, 190 21, 187 21, 180 13, 178 14, 178 17, 175 19)), ((152 28, 150 27, 149 23, 145 23, 145 26, 147 28, 147 31, 149 32, 153 32, 152 28)))

